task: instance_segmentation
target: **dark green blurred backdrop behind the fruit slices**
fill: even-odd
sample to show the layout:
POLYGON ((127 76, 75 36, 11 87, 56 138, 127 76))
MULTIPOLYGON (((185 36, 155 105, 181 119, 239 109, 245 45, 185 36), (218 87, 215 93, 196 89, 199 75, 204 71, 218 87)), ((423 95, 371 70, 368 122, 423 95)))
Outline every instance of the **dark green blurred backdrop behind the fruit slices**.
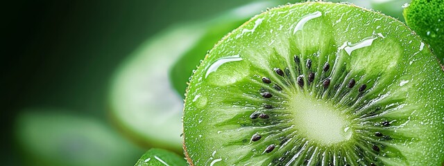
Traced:
MULTIPOLYGON (((97 119, 119 133, 109 120, 106 100, 112 74, 123 59, 164 28, 210 20, 252 1, 3 2, 0 165, 24 165, 28 159, 14 137, 22 110, 64 110, 97 119)), ((397 2, 399 8, 404 3, 397 2)), ((128 165, 144 150, 136 149, 139 156, 128 165)))

